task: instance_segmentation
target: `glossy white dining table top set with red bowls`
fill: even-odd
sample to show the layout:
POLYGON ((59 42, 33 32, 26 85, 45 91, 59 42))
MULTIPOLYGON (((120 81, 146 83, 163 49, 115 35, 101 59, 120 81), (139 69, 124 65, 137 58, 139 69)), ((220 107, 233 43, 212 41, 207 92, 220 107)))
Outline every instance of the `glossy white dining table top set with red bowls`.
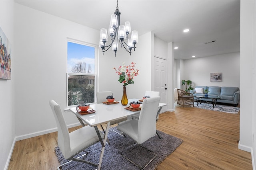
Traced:
MULTIPOLYGON (((108 123, 110 121, 118 120, 125 118, 130 115, 134 115, 140 113, 140 110, 130 111, 125 109, 125 107, 129 107, 130 102, 136 102, 139 99, 129 99, 128 105, 123 106, 120 101, 116 104, 90 104, 90 109, 95 110, 95 113, 81 115, 76 107, 70 107, 70 111, 72 111, 77 117, 85 121, 91 127, 101 125, 103 123, 108 123)), ((143 104, 142 104, 143 105, 143 104)), ((159 107, 166 106, 167 104, 160 103, 159 107)))

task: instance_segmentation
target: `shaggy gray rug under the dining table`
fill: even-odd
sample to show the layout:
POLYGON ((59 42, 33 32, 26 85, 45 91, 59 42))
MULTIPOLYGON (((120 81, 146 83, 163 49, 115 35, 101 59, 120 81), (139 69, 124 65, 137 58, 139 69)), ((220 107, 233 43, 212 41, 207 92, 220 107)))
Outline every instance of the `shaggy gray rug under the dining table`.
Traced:
MULTIPOLYGON (((110 128, 110 131, 108 133, 108 139, 110 142, 110 145, 106 144, 106 148, 104 151, 104 156, 102 160, 102 170, 140 170, 138 167, 136 167, 134 164, 126 160, 122 155, 120 155, 118 152, 124 151, 124 149, 132 144, 134 144, 134 141, 130 139, 130 137, 122 137, 118 133, 111 131, 116 130, 116 127, 110 128)), ((141 147, 144 147, 156 154, 156 158, 148 164, 144 170, 154 170, 156 167, 165 159, 167 158, 176 148, 178 148, 183 141, 177 137, 173 137, 171 135, 168 135, 162 131, 158 131, 159 135, 162 139, 159 139, 158 136, 154 136, 150 138, 148 141, 142 143, 141 147)), ((144 164, 145 160, 150 159, 151 155, 146 149, 138 149, 138 147, 134 147, 129 149, 129 153, 126 156, 132 156, 131 159, 137 160, 137 163, 144 164), (138 155, 141 155, 141 158, 138 159, 138 155), (134 156, 134 157, 133 157, 134 156), (137 156, 137 157, 136 157, 137 156), (141 160, 141 161, 140 161, 141 160)), ((98 163, 100 151, 101 151, 101 145, 100 143, 96 143, 86 149, 87 152, 90 152, 90 154, 82 157, 82 159, 90 160, 94 163, 98 163)), ((56 156, 60 162, 60 164, 64 164, 65 162, 68 162, 68 160, 64 159, 60 148, 55 147, 56 156)), ((84 154, 84 152, 81 152, 77 156, 80 156, 84 154)), ((125 153, 124 153, 125 154, 125 153)), ((77 157, 76 156, 76 157, 77 157)), ((90 166, 88 164, 82 163, 82 162, 76 162, 72 161, 64 166, 62 166, 62 170, 95 170, 96 167, 90 166)))

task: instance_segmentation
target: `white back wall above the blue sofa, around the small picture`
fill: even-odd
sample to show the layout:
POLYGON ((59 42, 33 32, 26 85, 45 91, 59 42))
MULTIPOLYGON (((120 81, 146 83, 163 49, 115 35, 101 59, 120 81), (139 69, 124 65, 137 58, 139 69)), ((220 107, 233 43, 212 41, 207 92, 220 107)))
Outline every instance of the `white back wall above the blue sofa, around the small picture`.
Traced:
POLYGON ((191 80, 193 86, 240 87, 240 53, 184 60, 181 80, 191 80), (221 72, 221 82, 210 82, 210 73, 221 72))

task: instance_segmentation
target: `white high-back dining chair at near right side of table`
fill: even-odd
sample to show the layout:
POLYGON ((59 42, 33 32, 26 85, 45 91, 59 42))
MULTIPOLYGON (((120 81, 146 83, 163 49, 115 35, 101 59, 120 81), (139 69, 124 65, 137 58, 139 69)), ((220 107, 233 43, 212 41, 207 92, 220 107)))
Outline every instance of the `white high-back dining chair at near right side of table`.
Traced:
MULTIPOLYGON (((139 119, 132 119, 117 126, 118 131, 128 135, 134 141, 136 141, 134 145, 131 145, 126 149, 129 149, 137 144, 140 145, 147 141, 148 139, 150 139, 151 137, 153 137, 154 135, 156 135, 156 114, 158 111, 159 103, 160 96, 144 99, 139 119)), ((120 154, 122 155, 122 152, 120 152, 120 154)), ((126 158, 126 156, 124 157, 126 158)), ((150 160, 150 162, 152 160, 150 160)), ((140 168, 143 169, 144 167, 140 168)))

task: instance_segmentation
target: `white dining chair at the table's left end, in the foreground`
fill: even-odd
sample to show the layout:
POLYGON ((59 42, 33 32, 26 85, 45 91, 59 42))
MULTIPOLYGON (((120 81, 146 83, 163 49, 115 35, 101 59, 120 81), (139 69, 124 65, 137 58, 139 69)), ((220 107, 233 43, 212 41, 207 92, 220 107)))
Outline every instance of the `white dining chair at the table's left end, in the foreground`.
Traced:
MULTIPOLYGON (((70 160, 69 162, 71 161, 84 162, 86 164, 90 164, 92 166, 98 167, 98 164, 96 163, 80 159, 80 157, 75 158, 74 156, 84 151, 86 148, 90 147, 91 145, 94 145, 98 141, 101 141, 102 147, 105 147, 103 146, 104 143, 102 142, 102 139, 104 138, 104 134, 96 130, 96 128, 93 128, 90 126, 85 126, 69 133, 68 127, 66 125, 66 121, 60 109, 60 106, 54 100, 50 100, 49 103, 50 103, 52 112, 54 114, 54 118, 58 128, 58 146, 60 147, 60 150, 64 158, 67 160, 70 160)), ((88 154, 88 152, 86 151, 84 152, 88 154)), ((58 170, 63 165, 64 164, 58 166, 58 170)))

